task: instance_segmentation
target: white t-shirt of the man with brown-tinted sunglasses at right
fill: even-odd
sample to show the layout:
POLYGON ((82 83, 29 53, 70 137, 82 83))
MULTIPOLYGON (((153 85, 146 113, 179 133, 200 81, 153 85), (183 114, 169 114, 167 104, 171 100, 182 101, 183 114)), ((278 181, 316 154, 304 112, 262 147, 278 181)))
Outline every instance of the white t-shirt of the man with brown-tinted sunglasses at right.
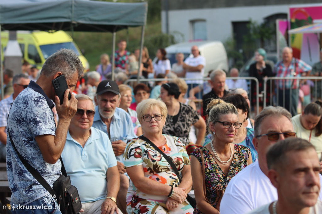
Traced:
MULTIPOLYGON (((320 183, 322 176, 319 174, 320 183)), ((322 188, 318 200, 322 200, 322 188)), ((259 162, 252 163, 228 183, 220 203, 220 214, 244 214, 278 199, 276 188, 260 170, 259 162)))

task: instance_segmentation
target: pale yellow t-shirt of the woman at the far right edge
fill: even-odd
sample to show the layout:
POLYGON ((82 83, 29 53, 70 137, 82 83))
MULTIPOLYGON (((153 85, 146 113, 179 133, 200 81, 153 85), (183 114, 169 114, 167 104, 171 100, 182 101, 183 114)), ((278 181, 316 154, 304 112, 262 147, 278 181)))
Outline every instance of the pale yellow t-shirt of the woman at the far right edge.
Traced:
POLYGON ((300 115, 301 114, 298 114, 292 117, 292 123, 294 127, 294 132, 296 132, 296 137, 303 138, 310 141, 310 143, 312 143, 313 146, 315 147, 315 150, 317 150, 317 156, 319 160, 321 160, 322 135, 318 137, 315 136, 316 129, 313 129, 312 133, 311 133, 311 130, 304 129, 304 127, 301 125, 301 122, 300 122, 300 115), (311 134, 311 139, 310 139, 310 134, 311 134))

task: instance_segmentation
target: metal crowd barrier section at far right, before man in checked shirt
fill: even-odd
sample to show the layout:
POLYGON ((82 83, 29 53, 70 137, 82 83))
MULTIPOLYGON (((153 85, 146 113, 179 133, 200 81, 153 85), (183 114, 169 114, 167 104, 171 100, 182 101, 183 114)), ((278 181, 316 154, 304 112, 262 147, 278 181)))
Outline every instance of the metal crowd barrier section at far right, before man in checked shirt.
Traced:
MULTIPOLYGON (((292 90, 296 90, 296 94, 298 97, 298 89, 299 89, 299 82, 301 80, 311 80, 314 83, 314 87, 312 89, 312 87, 310 87, 310 94, 312 92, 315 92, 315 96, 312 97, 312 99, 310 98, 310 102, 315 101, 315 100, 320 100, 321 99, 321 95, 317 96, 317 92, 319 92, 320 94, 322 94, 322 87, 319 87, 320 84, 318 84, 318 82, 320 82, 322 80, 321 76, 297 76, 297 77, 268 77, 264 79, 264 90, 261 92, 261 94, 264 94, 264 103, 263 103, 263 107, 265 108, 268 105, 272 105, 272 106, 282 106, 285 107, 285 101, 286 99, 289 99, 290 101, 290 109, 288 109, 289 111, 291 111, 291 106, 292 106, 292 99, 291 99, 291 92, 292 90), (279 93, 277 91, 277 86, 276 86, 276 82, 277 81, 281 81, 281 80, 293 80, 296 81, 296 89, 292 89, 292 88, 285 88, 285 84, 283 84, 283 88, 280 89, 282 90, 283 93, 283 103, 279 103, 279 93), (266 98, 267 98, 267 88, 268 85, 270 86, 270 97, 269 97, 269 103, 266 102, 266 98), (289 97, 285 96, 285 91, 289 90, 290 91, 290 95, 289 97), (275 94, 275 95, 273 95, 275 94)), ((293 85, 293 82, 292 82, 293 85)), ((294 102, 294 101, 293 101, 294 102)))

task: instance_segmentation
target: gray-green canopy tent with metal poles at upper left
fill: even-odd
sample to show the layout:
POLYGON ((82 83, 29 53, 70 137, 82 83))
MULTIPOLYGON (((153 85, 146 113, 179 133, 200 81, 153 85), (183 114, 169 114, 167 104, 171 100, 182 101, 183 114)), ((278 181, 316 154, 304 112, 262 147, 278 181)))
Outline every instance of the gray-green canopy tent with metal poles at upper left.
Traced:
MULTIPOLYGON (((112 78, 114 78, 116 31, 128 27, 142 26, 142 52, 146 20, 147 3, 145 2, 112 3, 90 0, 0 0, 0 25, 2 30, 112 32, 112 78)), ((139 61, 141 62, 141 56, 139 61)), ((2 66, 1 76, 3 76, 2 66)), ((2 87, 3 78, 1 78, 2 87)), ((1 90, 1 93, 3 97, 3 90, 1 90)))

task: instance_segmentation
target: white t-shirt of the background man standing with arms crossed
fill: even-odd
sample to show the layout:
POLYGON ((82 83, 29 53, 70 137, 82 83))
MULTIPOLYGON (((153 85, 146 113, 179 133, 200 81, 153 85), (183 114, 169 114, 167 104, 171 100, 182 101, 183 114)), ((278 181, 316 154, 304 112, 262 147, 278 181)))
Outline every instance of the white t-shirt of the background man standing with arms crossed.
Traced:
MULTIPOLYGON (((185 64, 189 66, 196 67, 198 65, 203 65, 205 67, 206 65, 206 59, 203 56, 197 56, 197 57, 188 57, 185 59, 185 64)), ((201 72, 199 71, 187 71, 185 77, 186 78, 193 78, 193 79, 201 79, 204 78, 204 67, 201 69, 201 72)), ((186 83, 197 83, 202 84, 202 80, 186 80, 186 83)))

